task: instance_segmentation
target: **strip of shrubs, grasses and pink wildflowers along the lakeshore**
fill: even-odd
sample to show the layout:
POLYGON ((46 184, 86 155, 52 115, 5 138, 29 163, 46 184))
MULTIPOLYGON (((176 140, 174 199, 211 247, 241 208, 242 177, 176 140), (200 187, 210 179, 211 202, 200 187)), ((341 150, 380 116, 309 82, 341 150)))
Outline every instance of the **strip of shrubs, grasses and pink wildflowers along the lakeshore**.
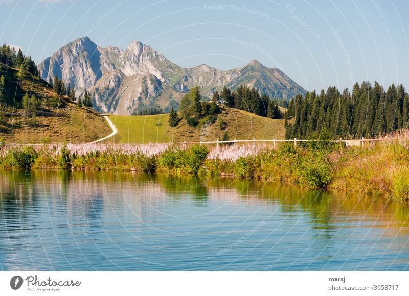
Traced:
POLYGON ((345 148, 331 141, 224 145, 53 145, 0 148, 0 169, 73 169, 231 176, 409 200, 409 131, 345 148))

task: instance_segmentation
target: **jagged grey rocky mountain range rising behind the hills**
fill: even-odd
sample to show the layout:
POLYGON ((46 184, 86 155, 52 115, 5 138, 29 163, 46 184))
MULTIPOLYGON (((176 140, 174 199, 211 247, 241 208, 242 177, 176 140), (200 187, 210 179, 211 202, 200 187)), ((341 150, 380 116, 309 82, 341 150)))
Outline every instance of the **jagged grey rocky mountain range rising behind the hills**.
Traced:
POLYGON ((291 98, 305 90, 282 71, 267 68, 258 61, 228 71, 207 65, 182 68, 148 45, 133 41, 126 50, 102 48, 88 37, 61 47, 38 65, 42 79, 57 75, 75 87, 95 94, 95 108, 101 112, 132 114, 138 106, 166 106, 180 100, 193 86, 212 97, 224 85, 235 89, 241 84, 254 86, 271 97, 291 98))

